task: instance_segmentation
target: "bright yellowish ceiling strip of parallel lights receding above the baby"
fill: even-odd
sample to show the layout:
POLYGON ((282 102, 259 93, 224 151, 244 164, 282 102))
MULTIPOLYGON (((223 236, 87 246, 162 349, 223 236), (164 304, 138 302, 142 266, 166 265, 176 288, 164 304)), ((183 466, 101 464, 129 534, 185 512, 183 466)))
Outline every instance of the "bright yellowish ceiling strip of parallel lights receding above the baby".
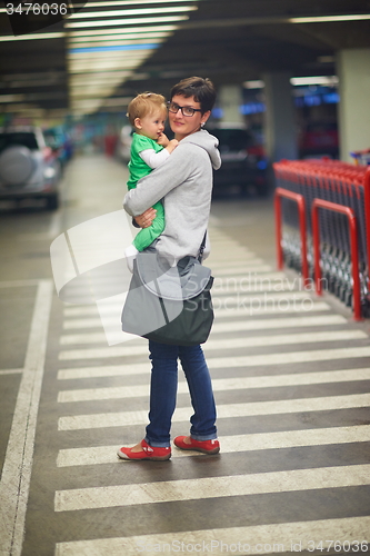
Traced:
POLYGON ((131 98, 119 97, 119 87, 181 22, 189 20, 187 12, 198 9, 194 1, 97 1, 81 4, 86 10, 66 18, 73 115, 127 107, 131 98), (182 2, 186 3, 181 6, 182 2), (154 3, 152 8, 148 6, 154 3), (103 7, 117 7, 117 10, 99 11, 103 7))

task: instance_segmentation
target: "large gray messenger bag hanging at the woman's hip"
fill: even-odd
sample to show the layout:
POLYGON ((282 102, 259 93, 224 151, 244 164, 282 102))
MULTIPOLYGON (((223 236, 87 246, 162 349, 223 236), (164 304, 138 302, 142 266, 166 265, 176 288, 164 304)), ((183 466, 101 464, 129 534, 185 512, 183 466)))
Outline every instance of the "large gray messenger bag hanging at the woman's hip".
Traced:
POLYGON ((184 257, 171 267, 154 248, 139 252, 122 310, 122 330, 160 344, 203 344, 213 324, 212 284, 211 269, 196 257, 184 257))

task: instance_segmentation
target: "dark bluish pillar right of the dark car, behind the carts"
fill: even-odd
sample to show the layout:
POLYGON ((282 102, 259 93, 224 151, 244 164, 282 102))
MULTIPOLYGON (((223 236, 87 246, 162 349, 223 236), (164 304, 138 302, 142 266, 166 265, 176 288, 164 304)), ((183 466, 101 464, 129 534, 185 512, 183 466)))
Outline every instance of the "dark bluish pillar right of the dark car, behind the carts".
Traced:
POLYGON ((266 95, 266 149, 271 162, 298 158, 293 96, 288 72, 263 76, 266 95))

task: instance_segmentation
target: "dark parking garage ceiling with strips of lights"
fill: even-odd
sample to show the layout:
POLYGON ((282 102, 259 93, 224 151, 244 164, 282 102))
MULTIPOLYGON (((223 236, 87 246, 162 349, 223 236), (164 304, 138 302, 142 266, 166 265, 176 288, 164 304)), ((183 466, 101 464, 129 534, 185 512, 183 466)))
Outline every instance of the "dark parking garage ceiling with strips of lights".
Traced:
POLYGON ((217 86, 269 71, 332 76, 336 51, 370 48, 370 0, 73 2, 60 21, 46 14, 47 27, 36 6, 67 4, 22 2, 9 17, 19 6, 0 3, 0 113, 122 111, 137 92, 168 95, 190 75, 217 86))

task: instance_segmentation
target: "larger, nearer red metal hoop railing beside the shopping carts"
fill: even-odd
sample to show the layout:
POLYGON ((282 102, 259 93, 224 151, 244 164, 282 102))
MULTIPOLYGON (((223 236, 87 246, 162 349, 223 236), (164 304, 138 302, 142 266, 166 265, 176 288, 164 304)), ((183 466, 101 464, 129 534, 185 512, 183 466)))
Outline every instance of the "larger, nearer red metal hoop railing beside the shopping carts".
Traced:
POLYGON ((316 292, 321 296, 321 268, 320 268, 320 226, 319 226, 319 208, 331 210, 332 212, 341 212, 347 215, 350 238, 351 238, 351 261, 352 261, 352 280, 353 280, 353 316, 354 320, 361 320, 361 297, 360 297, 360 279, 359 279, 359 244, 357 236, 357 219, 353 210, 350 207, 338 205, 336 202, 326 201, 324 199, 313 199, 312 202, 312 240, 313 240, 313 258, 314 258, 314 285, 316 292))

